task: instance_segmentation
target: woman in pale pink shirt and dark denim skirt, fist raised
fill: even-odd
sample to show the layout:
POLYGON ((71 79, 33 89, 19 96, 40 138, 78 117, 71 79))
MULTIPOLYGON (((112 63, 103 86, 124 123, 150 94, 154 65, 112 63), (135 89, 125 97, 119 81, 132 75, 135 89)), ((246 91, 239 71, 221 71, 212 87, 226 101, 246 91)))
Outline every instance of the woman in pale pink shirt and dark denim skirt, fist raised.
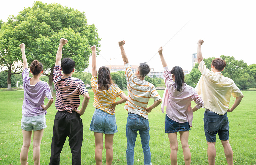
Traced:
POLYGON ((200 109, 204 102, 194 88, 185 84, 184 73, 181 67, 175 66, 172 70, 168 69, 163 57, 162 46, 158 49, 158 53, 164 67, 166 89, 163 94, 161 109, 164 112, 164 106, 166 106, 165 132, 168 133, 171 146, 171 164, 177 164, 177 132, 179 132, 184 161, 188 165, 191 162, 188 131, 192 126, 193 112, 200 109), (196 103, 193 109, 191 107, 192 100, 196 103))

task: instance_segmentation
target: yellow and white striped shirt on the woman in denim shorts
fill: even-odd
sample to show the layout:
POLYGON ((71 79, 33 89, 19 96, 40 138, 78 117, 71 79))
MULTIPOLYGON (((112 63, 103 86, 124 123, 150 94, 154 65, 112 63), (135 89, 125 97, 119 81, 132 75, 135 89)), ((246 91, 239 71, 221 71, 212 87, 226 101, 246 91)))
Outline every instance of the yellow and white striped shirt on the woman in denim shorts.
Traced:
POLYGON ((91 84, 94 92, 93 106, 109 114, 115 114, 111 113, 109 107, 115 103, 116 97, 124 92, 116 84, 112 84, 107 90, 99 91, 97 76, 92 76, 91 84))

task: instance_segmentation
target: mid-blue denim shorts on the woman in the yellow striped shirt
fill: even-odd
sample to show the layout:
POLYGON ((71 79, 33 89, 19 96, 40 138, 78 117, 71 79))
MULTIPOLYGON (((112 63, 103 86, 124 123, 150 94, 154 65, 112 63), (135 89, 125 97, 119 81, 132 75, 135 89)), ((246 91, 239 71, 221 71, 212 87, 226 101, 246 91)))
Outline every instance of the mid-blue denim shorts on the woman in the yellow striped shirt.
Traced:
POLYGON ((104 134, 117 133, 115 114, 109 114, 96 108, 93 113, 89 130, 104 134))

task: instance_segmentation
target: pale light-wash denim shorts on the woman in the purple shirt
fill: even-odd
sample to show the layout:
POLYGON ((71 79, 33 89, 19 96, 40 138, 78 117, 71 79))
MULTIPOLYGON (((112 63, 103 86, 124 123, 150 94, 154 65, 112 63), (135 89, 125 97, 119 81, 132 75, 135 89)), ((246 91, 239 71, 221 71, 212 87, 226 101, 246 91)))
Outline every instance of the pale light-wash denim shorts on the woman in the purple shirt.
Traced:
POLYGON ((21 118, 21 129, 25 131, 38 131, 46 128, 45 114, 38 116, 23 116, 21 118))

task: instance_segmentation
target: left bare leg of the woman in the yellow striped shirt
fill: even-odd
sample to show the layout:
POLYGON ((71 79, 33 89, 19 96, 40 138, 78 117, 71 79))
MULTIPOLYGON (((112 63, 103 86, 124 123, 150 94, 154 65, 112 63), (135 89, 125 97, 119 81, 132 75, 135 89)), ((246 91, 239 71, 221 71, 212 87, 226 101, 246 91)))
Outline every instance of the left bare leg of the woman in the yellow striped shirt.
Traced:
POLYGON ((96 165, 102 164, 103 133, 94 132, 96 165))

